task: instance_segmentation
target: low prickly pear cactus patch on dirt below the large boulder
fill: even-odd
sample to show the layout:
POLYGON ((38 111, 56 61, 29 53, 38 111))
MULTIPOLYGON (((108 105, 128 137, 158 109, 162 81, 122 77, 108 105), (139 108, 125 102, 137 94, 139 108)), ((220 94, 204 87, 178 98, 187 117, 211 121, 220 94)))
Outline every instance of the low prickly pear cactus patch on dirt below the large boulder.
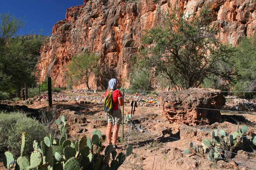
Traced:
POLYGON ((223 130, 220 130, 219 133, 215 130, 212 132, 211 140, 205 138, 202 145, 196 145, 195 147, 193 146, 193 142, 191 142, 190 148, 185 149, 184 153, 193 153, 201 157, 207 157, 213 162, 232 158, 238 150, 255 148, 256 136, 254 135, 253 138, 245 136, 247 131, 247 126, 239 128, 239 125, 237 125, 237 132, 230 135, 223 130))

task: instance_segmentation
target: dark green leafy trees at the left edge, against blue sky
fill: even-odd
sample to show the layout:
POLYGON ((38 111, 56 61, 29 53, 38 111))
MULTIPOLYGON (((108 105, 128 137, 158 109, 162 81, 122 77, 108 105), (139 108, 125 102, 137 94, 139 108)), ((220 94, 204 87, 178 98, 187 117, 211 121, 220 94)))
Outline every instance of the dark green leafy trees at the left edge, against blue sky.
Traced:
POLYGON ((35 82, 33 72, 40 57, 42 39, 38 35, 17 35, 25 25, 20 18, 6 13, 1 14, 0 19, 0 88, 12 92, 24 83, 35 82))

